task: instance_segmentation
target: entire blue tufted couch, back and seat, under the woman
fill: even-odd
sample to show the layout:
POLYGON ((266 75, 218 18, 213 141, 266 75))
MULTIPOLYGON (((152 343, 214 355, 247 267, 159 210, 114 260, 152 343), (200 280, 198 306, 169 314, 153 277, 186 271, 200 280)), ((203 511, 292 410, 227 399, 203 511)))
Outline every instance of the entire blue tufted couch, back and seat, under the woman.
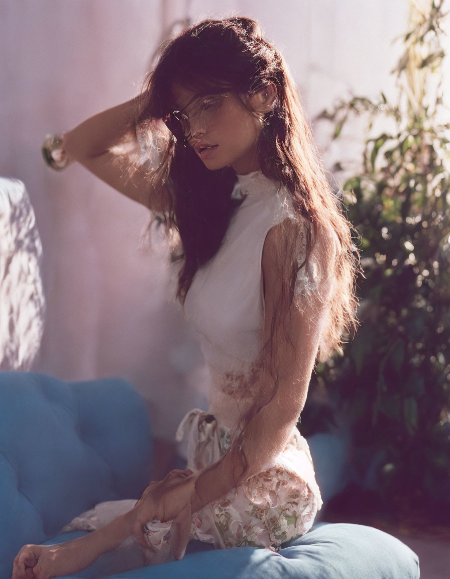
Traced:
MULTIPOLYGON (((320 483, 326 465, 309 441, 320 483), (318 467, 319 465, 319 467, 318 467)), ((0 373, 0 579, 25 543, 58 543, 73 516, 105 500, 139 497, 149 482, 152 434, 145 406, 119 379, 67 383, 0 373)), ((414 552, 371 527, 319 522, 275 554, 191 543, 179 562, 126 573, 104 555, 77 577, 216 579, 418 579, 414 552)))

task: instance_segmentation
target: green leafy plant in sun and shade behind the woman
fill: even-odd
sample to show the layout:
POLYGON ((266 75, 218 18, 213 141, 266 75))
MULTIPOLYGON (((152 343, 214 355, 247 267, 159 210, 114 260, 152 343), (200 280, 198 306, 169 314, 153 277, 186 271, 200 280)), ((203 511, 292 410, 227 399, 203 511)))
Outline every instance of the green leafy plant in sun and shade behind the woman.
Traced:
MULTIPOLYGON (((363 168, 343 187, 365 279, 361 325, 315 381, 351 423, 355 477, 397 513, 450 508, 450 124, 442 103, 443 0, 411 9, 391 103, 353 97, 321 119, 340 138, 367 115, 363 168), (447 121, 447 122, 445 122, 447 121), (377 127, 383 130, 377 132, 377 127)), ((334 167, 340 177, 342 163, 334 167)))

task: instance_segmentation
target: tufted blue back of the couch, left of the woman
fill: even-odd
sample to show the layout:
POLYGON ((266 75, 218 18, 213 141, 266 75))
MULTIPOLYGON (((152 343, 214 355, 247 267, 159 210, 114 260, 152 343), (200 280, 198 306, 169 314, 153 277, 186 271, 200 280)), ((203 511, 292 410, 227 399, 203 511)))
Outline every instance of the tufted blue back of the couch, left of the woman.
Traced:
POLYGON ((151 440, 145 406, 124 380, 1 372, 0 577, 23 544, 46 541, 95 503, 141 496, 151 440))

